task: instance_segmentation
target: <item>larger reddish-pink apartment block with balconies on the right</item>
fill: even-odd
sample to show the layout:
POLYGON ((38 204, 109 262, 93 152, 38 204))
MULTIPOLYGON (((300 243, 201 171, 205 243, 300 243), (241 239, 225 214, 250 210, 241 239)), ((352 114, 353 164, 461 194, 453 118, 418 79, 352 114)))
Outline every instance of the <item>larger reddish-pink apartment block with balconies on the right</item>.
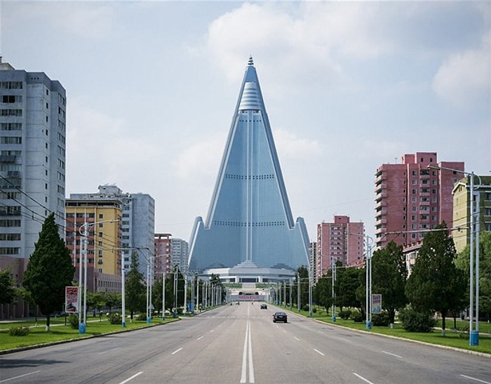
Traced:
POLYGON ((452 190, 464 173, 463 161, 440 161, 436 152, 404 154, 401 164, 382 164, 375 173, 375 244, 407 246, 445 221, 452 227, 452 190))

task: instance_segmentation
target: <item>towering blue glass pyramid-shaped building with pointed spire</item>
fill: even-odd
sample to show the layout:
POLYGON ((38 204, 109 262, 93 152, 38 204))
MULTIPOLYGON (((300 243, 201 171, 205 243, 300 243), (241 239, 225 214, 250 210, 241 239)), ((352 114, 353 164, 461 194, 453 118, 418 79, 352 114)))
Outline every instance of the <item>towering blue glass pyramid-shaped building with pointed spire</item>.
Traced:
POLYGON ((189 270, 247 266, 297 270, 309 265, 309 237, 293 220, 253 59, 241 92, 208 217, 196 218, 189 270))

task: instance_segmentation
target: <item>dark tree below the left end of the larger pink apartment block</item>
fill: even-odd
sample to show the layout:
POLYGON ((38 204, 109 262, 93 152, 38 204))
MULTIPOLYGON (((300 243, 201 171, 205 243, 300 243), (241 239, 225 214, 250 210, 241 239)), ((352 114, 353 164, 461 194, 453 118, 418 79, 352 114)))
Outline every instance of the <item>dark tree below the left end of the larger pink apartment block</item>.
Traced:
POLYGON ((372 291, 382 295, 382 308, 389 313, 391 324, 394 324, 396 310, 408 303, 404 293, 407 279, 408 268, 402 246, 390 241, 386 248, 373 253, 372 291))

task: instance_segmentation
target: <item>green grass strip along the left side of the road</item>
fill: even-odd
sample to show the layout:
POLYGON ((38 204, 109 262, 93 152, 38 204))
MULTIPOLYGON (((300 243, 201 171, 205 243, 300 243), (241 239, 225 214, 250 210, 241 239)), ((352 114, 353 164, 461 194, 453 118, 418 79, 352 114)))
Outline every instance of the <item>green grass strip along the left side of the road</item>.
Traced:
POLYGON ((43 345, 49 343, 60 342, 63 340, 74 340, 80 338, 89 338, 100 336, 108 333, 117 333, 130 331, 133 329, 146 328, 157 324, 175 322, 177 319, 166 317, 166 321, 162 322, 161 318, 152 319, 151 323, 141 322, 133 319, 133 322, 126 322, 126 327, 121 324, 110 324, 107 319, 92 320, 87 319, 86 333, 80 334, 78 329, 73 329, 69 322, 65 325, 65 318, 58 317, 51 319, 50 331, 46 332, 46 320, 39 321, 37 324, 34 320, 26 322, 4 322, 0 324, 0 352, 12 350, 15 348, 32 347, 34 345, 43 345), (18 326, 29 327, 29 333, 26 336, 11 336, 10 329, 18 326))

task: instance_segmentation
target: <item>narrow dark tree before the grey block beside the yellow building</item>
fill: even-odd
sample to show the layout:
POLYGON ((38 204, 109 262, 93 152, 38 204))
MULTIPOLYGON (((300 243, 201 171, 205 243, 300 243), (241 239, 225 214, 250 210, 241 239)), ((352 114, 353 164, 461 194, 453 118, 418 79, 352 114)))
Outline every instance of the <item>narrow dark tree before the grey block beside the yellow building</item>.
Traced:
MULTIPOLYGON (((133 322, 133 315, 135 312, 144 312, 146 307, 146 286, 144 284, 144 277, 142 272, 138 270, 140 267, 140 261, 135 252, 131 253, 131 266, 130 272, 126 275, 125 291, 126 300, 125 304, 130 311, 130 319, 133 322)), ((123 314, 124 316, 124 314, 123 314)))

